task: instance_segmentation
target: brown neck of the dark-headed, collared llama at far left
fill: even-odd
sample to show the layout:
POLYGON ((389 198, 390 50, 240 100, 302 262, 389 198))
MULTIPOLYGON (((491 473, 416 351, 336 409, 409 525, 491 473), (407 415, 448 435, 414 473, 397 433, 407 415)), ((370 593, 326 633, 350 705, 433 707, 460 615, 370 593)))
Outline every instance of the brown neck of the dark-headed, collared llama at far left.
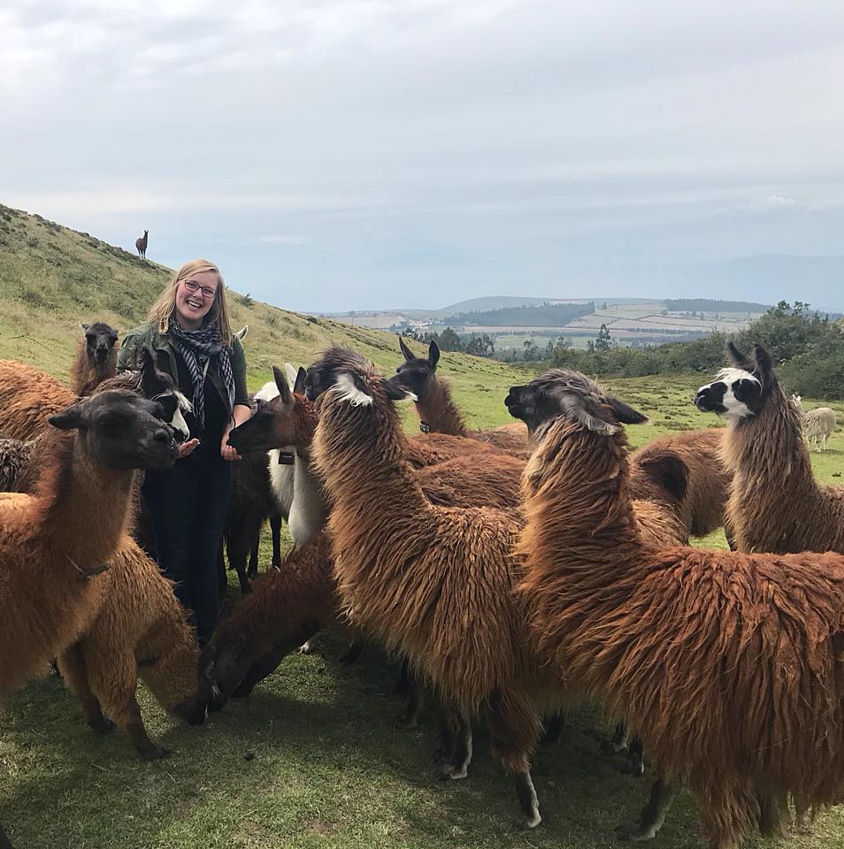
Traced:
POLYGON ((58 475, 46 482, 42 534, 81 570, 104 565, 127 528, 133 503, 134 470, 92 463, 73 435, 65 437, 58 475), (50 486, 52 484, 52 486, 50 486))

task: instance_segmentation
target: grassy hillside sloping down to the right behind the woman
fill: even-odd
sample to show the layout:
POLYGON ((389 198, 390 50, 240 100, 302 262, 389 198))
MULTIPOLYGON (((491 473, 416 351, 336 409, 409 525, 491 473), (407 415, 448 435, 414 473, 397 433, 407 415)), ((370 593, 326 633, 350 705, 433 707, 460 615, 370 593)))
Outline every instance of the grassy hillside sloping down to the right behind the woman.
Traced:
MULTIPOLYGON (((107 321, 127 331, 144 320, 171 274, 88 233, 0 205, 0 358, 23 360, 66 378, 80 321, 107 321)), ((356 348, 387 374, 402 362, 392 333, 228 294, 235 329, 249 325, 244 346, 250 389, 272 378, 273 363, 310 363, 334 342, 356 348)), ((470 424, 486 424, 490 417, 508 421, 501 401, 523 372, 463 354, 444 354, 441 370, 470 424)))

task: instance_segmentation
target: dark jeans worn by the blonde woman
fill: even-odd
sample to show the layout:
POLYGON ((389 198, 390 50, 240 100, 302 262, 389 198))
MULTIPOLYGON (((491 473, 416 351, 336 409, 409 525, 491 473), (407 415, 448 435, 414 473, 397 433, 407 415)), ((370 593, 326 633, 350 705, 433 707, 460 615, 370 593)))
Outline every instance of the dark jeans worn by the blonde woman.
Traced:
POLYGON ((182 606, 193 611, 201 646, 217 623, 217 553, 231 494, 232 464, 203 447, 169 471, 148 471, 143 482, 158 566, 176 583, 182 606))

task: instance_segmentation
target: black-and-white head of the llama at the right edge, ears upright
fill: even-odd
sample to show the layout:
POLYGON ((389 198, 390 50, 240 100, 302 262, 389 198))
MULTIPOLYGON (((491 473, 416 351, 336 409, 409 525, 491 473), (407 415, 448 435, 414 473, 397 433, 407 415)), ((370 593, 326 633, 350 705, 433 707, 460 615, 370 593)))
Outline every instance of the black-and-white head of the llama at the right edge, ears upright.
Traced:
POLYGON ((718 371, 715 380, 701 386, 694 395, 697 409, 718 413, 733 421, 756 416, 771 394, 777 379, 771 356, 756 345, 753 359, 729 343, 731 365, 718 371))

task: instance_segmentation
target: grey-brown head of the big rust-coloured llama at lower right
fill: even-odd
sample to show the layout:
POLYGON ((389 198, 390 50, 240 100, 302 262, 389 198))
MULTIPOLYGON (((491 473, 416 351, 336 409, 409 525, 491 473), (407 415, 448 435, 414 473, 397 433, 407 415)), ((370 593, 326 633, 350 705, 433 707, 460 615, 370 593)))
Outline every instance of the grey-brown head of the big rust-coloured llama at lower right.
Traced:
POLYGON ((640 424, 648 417, 579 371, 554 369, 524 386, 510 386, 504 399, 510 416, 520 418, 531 434, 564 417, 589 431, 610 435, 619 424, 640 424))

